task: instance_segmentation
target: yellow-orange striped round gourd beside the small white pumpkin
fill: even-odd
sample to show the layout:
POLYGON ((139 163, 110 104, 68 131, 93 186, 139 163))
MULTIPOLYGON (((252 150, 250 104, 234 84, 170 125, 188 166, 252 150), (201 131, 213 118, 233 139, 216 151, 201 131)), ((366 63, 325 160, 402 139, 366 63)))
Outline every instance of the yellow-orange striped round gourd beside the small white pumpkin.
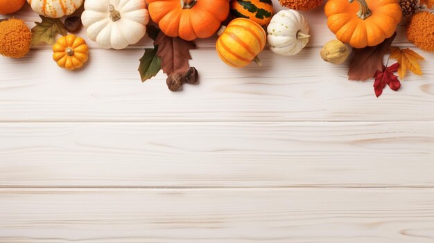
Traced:
POLYGON ((216 42, 218 56, 233 67, 247 66, 266 46, 265 30, 250 19, 232 20, 216 42))

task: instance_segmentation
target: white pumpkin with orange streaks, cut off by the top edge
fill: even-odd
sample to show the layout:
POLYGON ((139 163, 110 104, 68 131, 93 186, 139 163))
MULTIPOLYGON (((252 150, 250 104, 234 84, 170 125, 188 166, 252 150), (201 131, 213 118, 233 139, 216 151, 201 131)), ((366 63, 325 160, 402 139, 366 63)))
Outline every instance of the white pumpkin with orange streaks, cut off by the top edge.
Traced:
POLYGON ((83 0, 27 0, 33 11, 51 18, 71 15, 83 4, 83 0))

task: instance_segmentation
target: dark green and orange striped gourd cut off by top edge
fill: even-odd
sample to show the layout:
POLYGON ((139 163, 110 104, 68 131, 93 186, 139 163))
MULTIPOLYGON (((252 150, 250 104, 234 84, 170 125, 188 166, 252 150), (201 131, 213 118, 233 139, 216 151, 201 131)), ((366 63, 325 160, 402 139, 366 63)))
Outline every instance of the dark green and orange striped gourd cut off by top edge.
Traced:
POLYGON ((232 0, 231 11, 236 18, 252 19, 261 26, 266 26, 272 17, 272 1, 232 0))

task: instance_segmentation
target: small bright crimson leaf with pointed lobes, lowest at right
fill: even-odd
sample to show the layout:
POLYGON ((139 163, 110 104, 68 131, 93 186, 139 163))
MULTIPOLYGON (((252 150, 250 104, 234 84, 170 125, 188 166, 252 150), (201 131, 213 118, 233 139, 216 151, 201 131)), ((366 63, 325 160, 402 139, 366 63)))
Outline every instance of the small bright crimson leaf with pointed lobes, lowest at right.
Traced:
POLYGON ((376 97, 381 96, 383 93, 383 89, 385 84, 388 84, 390 89, 397 91, 401 88, 401 82, 398 80, 398 76, 394 75, 394 72, 397 72, 399 68, 399 63, 395 63, 392 66, 385 67, 383 66, 383 71, 376 71, 374 78, 374 90, 376 97))

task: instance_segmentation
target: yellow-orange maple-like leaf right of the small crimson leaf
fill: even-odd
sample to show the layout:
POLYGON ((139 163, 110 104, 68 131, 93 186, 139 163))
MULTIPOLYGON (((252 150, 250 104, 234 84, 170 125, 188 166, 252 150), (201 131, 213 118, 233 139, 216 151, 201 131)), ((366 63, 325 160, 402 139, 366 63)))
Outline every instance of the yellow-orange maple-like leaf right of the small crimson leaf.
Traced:
POLYGON ((424 60, 424 57, 415 53, 409 48, 401 50, 399 47, 390 47, 390 58, 394 58, 399 62, 398 74, 403 80, 407 70, 412 71, 417 75, 422 75, 422 69, 419 66, 419 60, 424 60))

